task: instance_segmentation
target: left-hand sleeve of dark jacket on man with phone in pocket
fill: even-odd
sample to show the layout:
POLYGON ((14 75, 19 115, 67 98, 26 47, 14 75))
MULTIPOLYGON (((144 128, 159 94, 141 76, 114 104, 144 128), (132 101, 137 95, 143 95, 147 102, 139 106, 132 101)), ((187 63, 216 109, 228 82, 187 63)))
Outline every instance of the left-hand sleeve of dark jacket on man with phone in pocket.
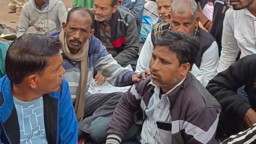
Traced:
POLYGON ((136 90, 139 83, 141 81, 131 86, 119 100, 108 125, 106 144, 120 144, 133 125, 134 114, 140 110, 141 96, 136 90))

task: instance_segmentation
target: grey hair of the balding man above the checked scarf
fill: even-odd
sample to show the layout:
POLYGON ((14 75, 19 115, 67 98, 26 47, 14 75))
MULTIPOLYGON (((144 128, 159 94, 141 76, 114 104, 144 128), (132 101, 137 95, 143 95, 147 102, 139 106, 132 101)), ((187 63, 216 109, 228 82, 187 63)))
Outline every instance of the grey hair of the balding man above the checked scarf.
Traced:
POLYGON ((195 0, 172 0, 171 13, 177 9, 178 14, 185 14, 189 9, 192 16, 196 17, 197 4, 195 0))

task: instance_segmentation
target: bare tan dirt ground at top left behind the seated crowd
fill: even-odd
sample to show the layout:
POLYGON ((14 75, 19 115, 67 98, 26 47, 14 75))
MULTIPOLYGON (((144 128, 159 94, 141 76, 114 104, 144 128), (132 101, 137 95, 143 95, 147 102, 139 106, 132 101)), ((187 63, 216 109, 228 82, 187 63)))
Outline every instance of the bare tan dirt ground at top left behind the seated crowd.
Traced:
MULTIPOLYGON (((62 1, 64 2, 66 9, 68 7, 72 7, 72 0, 62 1)), ((20 16, 17 16, 15 13, 7 13, 7 6, 9 2, 10 0, 0 0, 0 24, 16 28, 18 26, 20 16)))

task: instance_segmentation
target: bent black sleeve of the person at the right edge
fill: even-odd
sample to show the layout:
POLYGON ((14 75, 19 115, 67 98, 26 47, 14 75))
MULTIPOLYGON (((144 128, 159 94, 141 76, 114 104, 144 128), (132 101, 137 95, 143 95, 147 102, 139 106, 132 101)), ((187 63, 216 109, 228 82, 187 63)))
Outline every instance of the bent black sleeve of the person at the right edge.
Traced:
POLYGON ((241 86, 252 86, 256 77, 256 60, 247 59, 254 56, 246 56, 219 73, 213 78, 207 90, 218 100, 224 112, 244 119, 250 105, 245 99, 237 94, 241 86))

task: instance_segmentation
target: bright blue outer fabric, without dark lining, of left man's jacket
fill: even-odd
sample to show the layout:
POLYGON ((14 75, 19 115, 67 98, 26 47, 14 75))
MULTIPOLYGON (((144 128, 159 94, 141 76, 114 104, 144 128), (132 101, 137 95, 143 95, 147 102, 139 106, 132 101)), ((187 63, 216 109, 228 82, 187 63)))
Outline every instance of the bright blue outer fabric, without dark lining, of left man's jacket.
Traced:
MULTIPOLYGON (((0 107, 0 121, 1 123, 4 123, 9 118, 14 105, 12 96, 12 84, 7 76, 4 76, 0 79, 0 92, 2 92, 4 100, 2 106, 0 107)), ((60 96, 60 89, 57 92, 49 93, 48 95, 58 99, 57 115, 59 121, 57 121, 58 131, 56 144, 77 144, 77 119, 73 105, 71 103, 71 96, 67 82, 63 79, 62 96, 60 96)), ((7 128, 3 127, 2 129, 3 131, 1 131, 0 134, 4 133, 4 130, 7 128)))

